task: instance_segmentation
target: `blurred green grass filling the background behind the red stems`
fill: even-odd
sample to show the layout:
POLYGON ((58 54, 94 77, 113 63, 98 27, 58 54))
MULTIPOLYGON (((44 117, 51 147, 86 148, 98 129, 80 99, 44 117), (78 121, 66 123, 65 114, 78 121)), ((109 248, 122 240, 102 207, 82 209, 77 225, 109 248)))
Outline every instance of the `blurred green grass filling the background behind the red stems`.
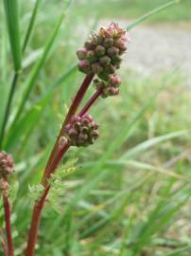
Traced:
MULTIPOLYGON (((127 9, 121 4, 126 1, 113 1, 113 6, 107 5, 107 8, 105 2, 105 6, 101 5, 101 16, 134 18, 162 3, 145 1, 148 5, 142 6, 144 1, 127 2, 130 2, 127 9)), ((91 9, 98 8, 98 3, 93 1, 91 9)), ((44 41, 47 42, 61 14, 60 4, 60 1, 40 4, 40 13, 26 47, 28 59, 35 56, 39 60, 44 41), (35 55, 39 50, 40 54, 35 55)), ((188 1, 182 1, 182 5, 157 14, 154 19, 186 21, 186 5, 188 1), (182 13, 176 19, 175 9, 182 13)), ((30 1, 20 3, 23 39, 31 7, 30 1)), ((35 58, 18 83, 4 142, 16 160, 20 183, 12 215, 15 255, 22 255, 25 248, 30 219, 26 212, 33 204, 28 184, 39 183, 62 117, 83 77, 74 67, 75 49, 96 25, 96 12, 85 8, 82 5, 77 12, 75 4, 69 7, 21 119, 11 128, 21 95, 26 91, 27 78, 33 74, 35 58), (85 8, 92 19, 83 28, 87 23, 82 15, 85 8)), ((2 118, 12 66, 5 19, 0 17, 2 118)), ((99 101, 91 111, 100 123, 100 139, 88 152, 73 149, 67 154, 65 161, 78 158, 78 172, 65 180, 59 213, 58 206, 47 202, 37 256, 190 255, 190 89, 178 70, 144 79, 124 66, 121 75, 120 96, 99 101)), ((0 212, 2 224, 2 210, 0 212)))

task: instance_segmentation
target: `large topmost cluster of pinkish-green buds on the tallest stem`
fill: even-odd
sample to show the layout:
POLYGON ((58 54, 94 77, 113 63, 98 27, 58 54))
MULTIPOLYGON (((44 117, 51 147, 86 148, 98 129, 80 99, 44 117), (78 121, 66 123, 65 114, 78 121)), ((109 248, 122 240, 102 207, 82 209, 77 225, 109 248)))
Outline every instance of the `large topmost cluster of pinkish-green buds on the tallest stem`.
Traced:
MULTIPOLYGON (((98 32, 92 32, 84 47, 77 51, 79 70, 86 74, 96 74, 102 82, 102 87, 108 87, 104 89, 103 97, 116 95, 119 92, 120 82, 117 83, 117 87, 113 86, 113 77, 116 77, 116 70, 120 67, 129 40, 127 31, 118 24, 112 23, 108 27, 101 27, 98 32)), ((96 87, 97 83, 100 87, 101 82, 96 80, 96 87)))

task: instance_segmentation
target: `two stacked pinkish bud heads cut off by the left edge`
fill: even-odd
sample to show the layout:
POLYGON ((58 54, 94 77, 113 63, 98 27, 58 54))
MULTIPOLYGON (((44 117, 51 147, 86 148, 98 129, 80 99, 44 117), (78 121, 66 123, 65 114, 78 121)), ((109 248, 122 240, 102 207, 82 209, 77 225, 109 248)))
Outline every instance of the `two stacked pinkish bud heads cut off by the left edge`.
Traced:
POLYGON ((8 196, 9 193, 9 174, 12 174, 14 170, 14 162, 11 155, 6 152, 0 152, 0 192, 4 196, 8 196))

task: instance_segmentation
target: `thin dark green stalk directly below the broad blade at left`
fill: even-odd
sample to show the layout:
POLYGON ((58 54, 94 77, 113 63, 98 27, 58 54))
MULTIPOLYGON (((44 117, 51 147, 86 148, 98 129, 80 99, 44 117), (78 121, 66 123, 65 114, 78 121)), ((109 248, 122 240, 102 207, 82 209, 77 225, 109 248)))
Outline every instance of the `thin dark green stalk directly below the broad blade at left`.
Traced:
POLYGON ((12 82, 11 82, 10 91, 9 91, 9 99, 8 99, 7 106, 6 106, 3 125, 2 125, 2 128, 1 128, 0 148, 2 147, 2 143, 3 143, 5 131, 6 131, 6 126, 7 126, 8 120, 9 120, 10 106, 11 106, 11 102, 12 102, 13 95, 14 95, 14 92, 15 92, 17 80, 18 80, 18 73, 15 73, 14 76, 13 76, 12 82))

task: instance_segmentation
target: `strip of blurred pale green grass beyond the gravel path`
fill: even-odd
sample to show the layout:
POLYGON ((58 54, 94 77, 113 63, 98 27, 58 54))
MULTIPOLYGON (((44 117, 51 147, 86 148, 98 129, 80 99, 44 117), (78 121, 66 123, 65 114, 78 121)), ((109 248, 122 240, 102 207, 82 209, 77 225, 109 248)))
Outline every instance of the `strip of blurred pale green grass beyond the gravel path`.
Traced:
MULTIPOLYGON (((94 16, 98 15, 101 18, 110 19, 134 19, 143 15, 150 9, 154 9, 166 3, 165 0, 92 0, 83 1, 83 4, 78 5, 78 12, 81 15, 94 16), (91 3, 91 4, 90 4, 91 3)), ((152 22, 190 22, 191 2, 189 0, 182 0, 181 5, 166 9, 158 15, 152 16, 148 23, 152 22)))

